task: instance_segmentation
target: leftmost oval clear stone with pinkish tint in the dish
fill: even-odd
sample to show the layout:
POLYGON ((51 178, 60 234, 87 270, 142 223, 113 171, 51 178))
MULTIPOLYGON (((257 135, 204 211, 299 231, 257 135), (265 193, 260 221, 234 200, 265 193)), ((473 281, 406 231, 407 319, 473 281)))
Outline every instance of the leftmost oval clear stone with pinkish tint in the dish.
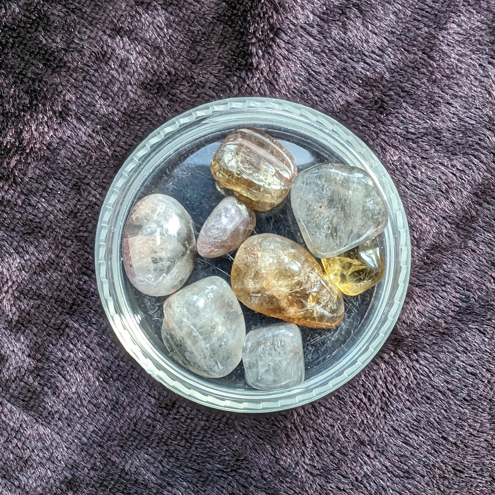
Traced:
POLYGON ((132 285, 149 296, 167 296, 191 275, 196 238, 189 213, 174 198, 151 194, 131 209, 122 258, 132 285))

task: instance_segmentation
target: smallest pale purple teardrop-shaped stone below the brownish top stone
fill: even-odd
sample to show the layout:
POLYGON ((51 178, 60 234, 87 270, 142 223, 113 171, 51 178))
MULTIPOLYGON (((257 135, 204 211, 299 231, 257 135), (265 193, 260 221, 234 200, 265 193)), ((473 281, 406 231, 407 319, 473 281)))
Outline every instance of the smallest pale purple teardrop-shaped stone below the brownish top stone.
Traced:
POLYGON ((198 236, 198 254, 216 258, 237 249, 251 235, 256 215, 239 199, 222 199, 206 219, 198 236))

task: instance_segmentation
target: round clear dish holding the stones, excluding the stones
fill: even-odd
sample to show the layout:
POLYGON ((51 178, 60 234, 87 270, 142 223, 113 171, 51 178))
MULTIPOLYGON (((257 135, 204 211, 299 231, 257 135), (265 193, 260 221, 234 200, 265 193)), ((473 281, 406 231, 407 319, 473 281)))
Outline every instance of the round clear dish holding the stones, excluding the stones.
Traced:
MULTIPOLYGON (((255 233, 273 232, 304 242, 287 198, 275 210, 257 212, 255 233)), ((187 284, 218 275, 229 281, 232 258, 197 256, 187 284)), ((104 311, 129 354, 173 392, 229 411, 288 409, 322 397, 351 379, 384 344, 399 315, 410 270, 410 239, 402 202, 375 154, 334 119, 297 103, 268 98, 235 98, 198 106, 151 133, 117 173, 101 208, 96 237, 96 275, 104 311), (160 338, 165 297, 146 296, 130 284, 122 265, 125 220, 140 198, 164 193, 179 200, 195 222, 196 234, 222 192, 209 170, 223 138, 239 127, 264 130, 293 154, 298 170, 330 161, 364 168, 376 181, 389 210, 380 236, 385 277, 357 297, 345 297, 346 317, 334 330, 301 328, 305 381, 291 389, 248 388, 241 364, 227 377, 199 377, 168 357, 160 338)), ((275 322, 243 306, 246 330, 275 322)))

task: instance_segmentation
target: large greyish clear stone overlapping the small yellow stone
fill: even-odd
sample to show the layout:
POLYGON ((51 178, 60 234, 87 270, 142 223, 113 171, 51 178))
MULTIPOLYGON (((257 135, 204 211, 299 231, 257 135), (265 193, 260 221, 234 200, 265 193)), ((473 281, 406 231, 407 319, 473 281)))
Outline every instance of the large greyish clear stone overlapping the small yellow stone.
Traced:
POLYGON ((291 204, 308 249, 330 258, 383 232, 387 205, 369 174, 350 165, 324 163, 297 175, 291 204))

